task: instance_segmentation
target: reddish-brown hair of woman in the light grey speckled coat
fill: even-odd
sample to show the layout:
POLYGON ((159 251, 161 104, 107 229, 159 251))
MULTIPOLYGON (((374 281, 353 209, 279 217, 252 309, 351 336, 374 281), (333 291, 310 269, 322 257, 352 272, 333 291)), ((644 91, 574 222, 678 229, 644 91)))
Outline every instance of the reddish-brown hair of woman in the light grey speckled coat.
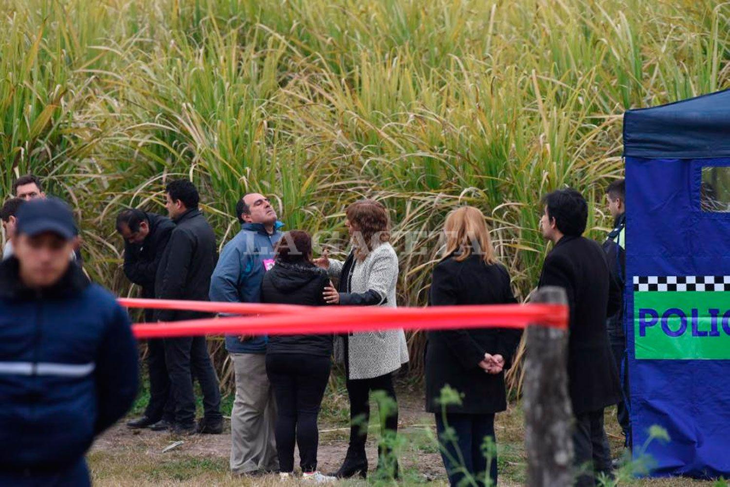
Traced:
POLYGON ((374 199, 361 199, 350 204, 345 215, 358 230, 350 242, 359 261, 363 261, 374 247, 391 239, 391 221, 382 203, 374 199))

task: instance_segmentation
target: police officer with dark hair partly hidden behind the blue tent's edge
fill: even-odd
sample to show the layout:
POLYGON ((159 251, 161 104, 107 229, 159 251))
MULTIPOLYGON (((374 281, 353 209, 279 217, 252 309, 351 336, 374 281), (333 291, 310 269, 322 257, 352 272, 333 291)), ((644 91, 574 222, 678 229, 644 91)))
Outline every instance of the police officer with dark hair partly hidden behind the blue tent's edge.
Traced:
POLYGON ((628 356, 626 355, 626 331, 623 329, 623 289, 626 285, 626 180, 617 180, 606 189, 608 210, 613 217, 613 230, 603 244, 603 250, 608 259, 611 275, 621 285, 621 306, 618 312, 607 321, 608 340, 611 352, 616 363, 618 376, 621 379, 622 396, 616 409, 616 419, 621 425, 626 448, 630 448, 631 434, 629 434, 629 370, 628 356))

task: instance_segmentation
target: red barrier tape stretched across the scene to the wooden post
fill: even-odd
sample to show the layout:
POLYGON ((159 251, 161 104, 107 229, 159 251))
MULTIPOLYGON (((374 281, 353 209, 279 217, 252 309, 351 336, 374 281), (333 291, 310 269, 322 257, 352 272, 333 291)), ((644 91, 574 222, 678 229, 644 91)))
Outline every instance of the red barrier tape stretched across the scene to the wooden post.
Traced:
POLYGON ((125 307, 249 316, 203 318, 172 323, 137 323, 137 338, 190 337, 206 334, 331 334, 358 331, 445 330, 463 328, 523 329, 529 324, 566 329, 568 308, 561 304, 490 304, 478 306, 307 307, 291 304, 220 303, 120 299, 125 307), (251 314, 257 314, 251 316, 251 314))

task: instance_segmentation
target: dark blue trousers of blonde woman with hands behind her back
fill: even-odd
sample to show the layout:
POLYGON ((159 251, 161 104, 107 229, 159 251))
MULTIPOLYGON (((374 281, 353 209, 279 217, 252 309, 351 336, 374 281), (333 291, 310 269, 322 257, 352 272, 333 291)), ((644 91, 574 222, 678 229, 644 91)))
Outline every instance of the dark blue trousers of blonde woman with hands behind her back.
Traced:
POLYGON ((492 485, 496 486, 496 449, 490 453, 491 458, 488 458, 482 450, 486 437, 494 439, 493 414, 447 413, 445 423, 443 415, 437 414, 436 430, 441 446, 441 458, 451 487, 461 485, 467 475, 475 480, 477 486, 485 486, 487 474, 492 480, 492 485), (456 438, 451 432, 447 432, 447 429, 453 430, 456 438))

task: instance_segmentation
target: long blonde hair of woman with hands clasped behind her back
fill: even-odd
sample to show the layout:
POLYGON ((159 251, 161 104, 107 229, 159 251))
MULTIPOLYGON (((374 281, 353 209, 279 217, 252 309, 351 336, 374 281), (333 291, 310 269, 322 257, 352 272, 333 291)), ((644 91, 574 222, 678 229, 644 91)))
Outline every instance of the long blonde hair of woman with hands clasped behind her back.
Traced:
POLYGON ((444 223, 446 249, 444 257, 459 253, 456 261, 464 261, 473 253, 481 256, 485 264, 496 264, 492 239, 482 212, 475 207, 453 210, 444 223))

